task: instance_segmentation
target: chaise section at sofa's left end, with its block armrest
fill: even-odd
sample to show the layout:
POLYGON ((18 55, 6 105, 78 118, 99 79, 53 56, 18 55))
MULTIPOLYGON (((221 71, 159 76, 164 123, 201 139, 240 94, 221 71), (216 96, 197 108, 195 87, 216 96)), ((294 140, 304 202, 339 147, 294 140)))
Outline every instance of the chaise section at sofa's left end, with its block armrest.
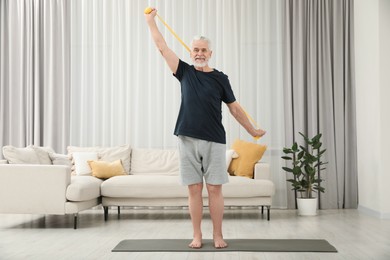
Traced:
POLYGON ((101 203, 102 180, 62 165, 0 164, 0 213, 74 215, 101 203))

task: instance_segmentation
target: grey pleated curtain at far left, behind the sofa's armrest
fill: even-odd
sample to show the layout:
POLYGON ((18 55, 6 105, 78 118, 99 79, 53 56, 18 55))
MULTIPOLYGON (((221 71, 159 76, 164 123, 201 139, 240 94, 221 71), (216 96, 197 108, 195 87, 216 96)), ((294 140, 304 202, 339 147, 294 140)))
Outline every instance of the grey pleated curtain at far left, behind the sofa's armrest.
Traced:
POLYGON ((0 2, 0 146, 69 143, 69 3, 0 2))

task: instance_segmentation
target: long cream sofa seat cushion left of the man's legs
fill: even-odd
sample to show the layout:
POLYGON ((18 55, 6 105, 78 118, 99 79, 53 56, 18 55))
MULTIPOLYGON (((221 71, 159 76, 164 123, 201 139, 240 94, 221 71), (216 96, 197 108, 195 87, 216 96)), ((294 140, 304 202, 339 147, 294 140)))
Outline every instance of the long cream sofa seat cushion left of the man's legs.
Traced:
POLYGON ((103 182, 102 196, 114 198, 177 198, 187 197, 187 187, 179 176, 125 175, 103 182))

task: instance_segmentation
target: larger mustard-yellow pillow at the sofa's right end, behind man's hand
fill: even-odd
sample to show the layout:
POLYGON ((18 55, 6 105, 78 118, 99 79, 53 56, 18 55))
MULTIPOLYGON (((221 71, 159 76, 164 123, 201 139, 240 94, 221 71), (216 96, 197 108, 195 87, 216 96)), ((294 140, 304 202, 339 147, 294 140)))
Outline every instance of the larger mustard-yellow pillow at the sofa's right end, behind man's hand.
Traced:
POLYGON ((236 151, 238 158, 234 158, 230 163, 229 174, 253 178, 255 164, 263 157, 267 146, 236 140, 232 149, 236 151))

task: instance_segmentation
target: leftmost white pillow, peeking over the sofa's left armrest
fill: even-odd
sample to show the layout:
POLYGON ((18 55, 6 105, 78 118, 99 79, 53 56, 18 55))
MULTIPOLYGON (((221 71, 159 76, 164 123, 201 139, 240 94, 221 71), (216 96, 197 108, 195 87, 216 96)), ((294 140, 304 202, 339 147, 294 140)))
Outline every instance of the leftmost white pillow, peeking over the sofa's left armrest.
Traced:
POLYGON ((40 164, 39 158, 31 146, 17 148, 7 145, 3 147, 3 155, 10 164, 40 164))

